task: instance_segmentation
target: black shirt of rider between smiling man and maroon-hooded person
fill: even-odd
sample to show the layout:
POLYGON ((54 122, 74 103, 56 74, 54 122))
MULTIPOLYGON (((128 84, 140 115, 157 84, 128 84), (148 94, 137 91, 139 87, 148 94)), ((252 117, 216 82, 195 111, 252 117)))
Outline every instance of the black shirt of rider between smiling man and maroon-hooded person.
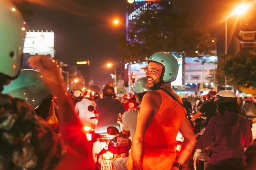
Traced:
POLYGON ((216 106, 216 104, 214 104, 213 100, 202 105, 199 112, 201 112, 202 114, 205 113, 205 115, 207 117, 207 120, 206 120, 207 124, 208 124, 209 120, 212 119, 212 117, 218 115, 216 109, 217 109, 217 106, 216 106))

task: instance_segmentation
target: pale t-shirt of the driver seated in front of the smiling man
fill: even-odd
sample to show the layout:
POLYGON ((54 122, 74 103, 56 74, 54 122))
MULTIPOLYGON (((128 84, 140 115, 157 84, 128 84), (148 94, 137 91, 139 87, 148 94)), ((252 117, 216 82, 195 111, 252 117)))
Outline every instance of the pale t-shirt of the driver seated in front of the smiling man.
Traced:
POLYGON ((123 114, 123 129, 130 132, 131 140, 136 130, 138 112, 138 109, 132 109, 123 114))

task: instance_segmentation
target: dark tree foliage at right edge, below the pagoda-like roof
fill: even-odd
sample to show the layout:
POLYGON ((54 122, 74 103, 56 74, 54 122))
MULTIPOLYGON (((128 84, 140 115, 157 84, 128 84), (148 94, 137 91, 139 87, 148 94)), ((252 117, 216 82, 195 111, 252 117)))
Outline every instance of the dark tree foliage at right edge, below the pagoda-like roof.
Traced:
POLYGON ((256 53, 254 51, 241 51, 228 56, 222 69, 231 85, 256 88, 256 53))

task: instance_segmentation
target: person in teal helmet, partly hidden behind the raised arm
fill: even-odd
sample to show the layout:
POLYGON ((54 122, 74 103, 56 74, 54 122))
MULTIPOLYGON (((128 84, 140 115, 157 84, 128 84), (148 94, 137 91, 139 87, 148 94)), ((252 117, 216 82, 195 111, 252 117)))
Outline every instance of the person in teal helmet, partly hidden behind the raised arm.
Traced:
POLYGON ((59 133, 59 122, 55 115, 58 107, 53 101, 52 91, 44 85, 38 71, 21 70, 18 78, 5 86, 2 93, 27 101, 36 114, 59 133))

